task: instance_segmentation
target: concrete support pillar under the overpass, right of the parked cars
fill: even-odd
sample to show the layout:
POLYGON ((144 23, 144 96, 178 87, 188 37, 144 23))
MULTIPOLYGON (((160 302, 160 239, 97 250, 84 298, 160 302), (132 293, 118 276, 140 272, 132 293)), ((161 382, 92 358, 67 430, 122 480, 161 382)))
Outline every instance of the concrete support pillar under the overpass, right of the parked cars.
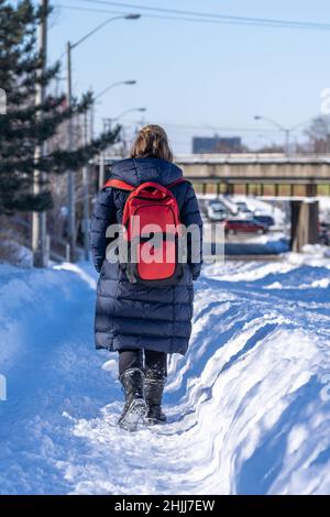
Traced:
POLYGON ((318 201, 292 201, 290 249, 300 253, 305 244, 316 244, 319 240, 318 201))

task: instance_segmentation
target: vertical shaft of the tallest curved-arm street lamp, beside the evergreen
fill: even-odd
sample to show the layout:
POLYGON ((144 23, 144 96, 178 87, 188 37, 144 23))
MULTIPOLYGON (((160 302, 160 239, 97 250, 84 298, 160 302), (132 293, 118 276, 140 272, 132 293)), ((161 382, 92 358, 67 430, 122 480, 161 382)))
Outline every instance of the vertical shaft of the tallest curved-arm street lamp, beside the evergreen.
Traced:
MULTIPOLYGON (((73 105, 73 84, 72 84, 72 44, 67 42, 67 102, 70 108, 73 105)), ((73 117, 68 119, 67 123, 67 138, 68 151, 74 151, 74 124, 73 117)), ((69 238, 69 258, 70 262, 76 261, 76 189, 75 189, 75 173, 67 172, 67 206, 68 206, 68 238, 69 238)))

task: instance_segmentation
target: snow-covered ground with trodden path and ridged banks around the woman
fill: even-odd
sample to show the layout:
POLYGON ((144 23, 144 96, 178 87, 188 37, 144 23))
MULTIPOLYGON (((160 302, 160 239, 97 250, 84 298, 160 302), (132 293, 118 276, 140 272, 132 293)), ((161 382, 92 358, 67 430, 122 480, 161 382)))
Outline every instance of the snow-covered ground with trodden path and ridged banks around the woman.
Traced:
POLYGON ((206 268, 169 424, 135 435, 95 286, 87 265, 0 266, 1 494, 330 493, 329 261, 206 268))

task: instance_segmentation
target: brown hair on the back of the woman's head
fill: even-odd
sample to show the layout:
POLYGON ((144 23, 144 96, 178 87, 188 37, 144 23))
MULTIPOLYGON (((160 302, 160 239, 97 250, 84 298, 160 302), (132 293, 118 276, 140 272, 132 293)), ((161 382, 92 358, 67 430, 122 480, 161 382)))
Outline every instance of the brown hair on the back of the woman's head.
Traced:
POLYGON ((161 125, 148 124, 142 128, 131 151, 131 158, 162 158, 173 162, 166 131, 161 125))

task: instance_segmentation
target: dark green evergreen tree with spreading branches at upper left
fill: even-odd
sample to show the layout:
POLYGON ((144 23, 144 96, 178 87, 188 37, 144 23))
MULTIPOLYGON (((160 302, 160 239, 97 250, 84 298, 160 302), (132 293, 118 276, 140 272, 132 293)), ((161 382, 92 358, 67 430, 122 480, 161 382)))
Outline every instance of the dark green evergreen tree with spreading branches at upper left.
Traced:
POLYGON ((12 4, 0 0, 0 88, 7 94, 7 114, 0 114, 0 215, 14 210, 46 210, 52 206, 47 179, 41 194, 33 194, 33 173, 63 174, 77 170, 96 153, 117 141, 120 128, 103 133, 89 145, 73 152, 52 146, 35 158, 35 147, 56 135, 72 117, 84 113, 92 102, 87 92, 72 107, 65 96, 46 96, 35 106, 36 85, 47 86, 59 72, 59 64, 42 70, 43 55, 36 48, 37 26, 43 12, 31 0, 12 4))

